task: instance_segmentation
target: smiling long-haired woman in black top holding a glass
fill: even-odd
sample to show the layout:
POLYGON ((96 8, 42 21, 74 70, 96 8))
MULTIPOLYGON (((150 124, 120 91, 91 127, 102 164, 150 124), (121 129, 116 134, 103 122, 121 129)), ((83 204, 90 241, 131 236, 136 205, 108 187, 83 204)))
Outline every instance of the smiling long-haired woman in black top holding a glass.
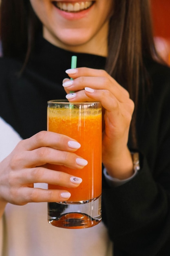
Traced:
POLYGON ((1 39, 2 255, 102 256, 113 242, 114 256, 168 256, 170 70, 154 61, 149 1, 2 0, 1 39), (43 183, 78 184, 43 165, 62 161, 83 171, 72 138, 41 132, 46 101, 65 97, 62 81, 69 101, 104 108, 104 224, 91 229, 44 224, 43 202, 68 200, 68 193, 43 183))

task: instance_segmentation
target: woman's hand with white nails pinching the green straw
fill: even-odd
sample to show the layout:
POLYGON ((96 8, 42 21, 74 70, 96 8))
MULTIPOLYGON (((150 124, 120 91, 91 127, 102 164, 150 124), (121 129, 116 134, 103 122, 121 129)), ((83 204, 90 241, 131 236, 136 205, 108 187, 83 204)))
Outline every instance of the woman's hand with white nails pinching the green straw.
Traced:
POLYGON ((74 80, 64 79, 66 98, 70 102, 101 101, 104 108, 102 162, 108 173, 119 179, 133 174, 127 147, 134 103, 129 93, 104 70, 86 67, 66 70, 74 80), (69 94, 70 91, 74 93, 69 94))

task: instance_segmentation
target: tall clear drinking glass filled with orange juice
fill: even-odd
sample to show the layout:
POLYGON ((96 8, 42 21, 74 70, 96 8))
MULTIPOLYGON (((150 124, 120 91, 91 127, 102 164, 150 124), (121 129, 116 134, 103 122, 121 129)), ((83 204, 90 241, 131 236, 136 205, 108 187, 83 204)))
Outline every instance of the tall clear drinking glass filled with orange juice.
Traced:
POLYGON ((76 154, 88 161, 82 170, 49 164, 55 171, 81 177, 77 188, 49 184, 49 189, 71 193, 66 202, 48 203, 48 221, 55 227, 81 229, 93 227, 102 220, 102 106, 100 102, 69 103, 53 100, 47 103, 47 130, 67 135, 81 144, 76 154))

